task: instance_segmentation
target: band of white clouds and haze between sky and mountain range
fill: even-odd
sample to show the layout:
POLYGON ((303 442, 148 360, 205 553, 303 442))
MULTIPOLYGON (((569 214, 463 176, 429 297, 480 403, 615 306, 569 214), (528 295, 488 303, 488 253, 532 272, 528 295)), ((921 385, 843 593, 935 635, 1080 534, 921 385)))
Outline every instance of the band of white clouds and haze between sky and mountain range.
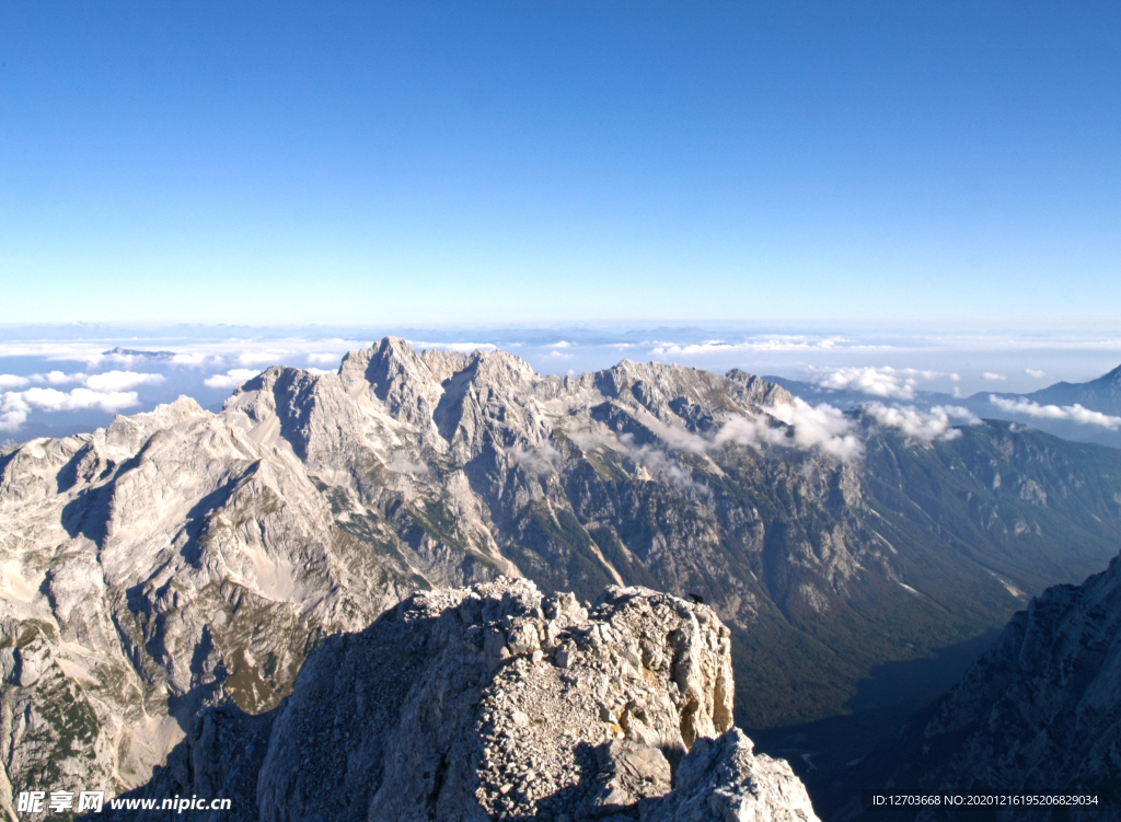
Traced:
MULTIPOLYGON (((1121 362, 1121 339, 1072 334, 978 338, 945 334, 795 333, 695 327, 634 329, 206 329, 127 331, 94 326, 0 329, 0 440, 59 436, 105 425, 114 414, 148 410, 179 395, 219 409, 238 386, 269 366, 335 371, 343 355, 385 334, 417 349, 504 349, 543 373, 577 373, 622 359, 676 362, 782 378, 798 399, 775 416, 782 438, 744 422, 702 451, 728 442, 793 444, 859 459, 853 428, 867 418, 923 442, 955 436, 981 416, 1065 425, 1064 432, 1121 432, 1121 417, 1078 405, 1039 405, 1010 392, 1096 377, 1121 362), (991 394, 998 388, 1001 395, 991 394), (785 436, 785 435, 784 435, 785 436)), ((673 432, 669 432, 671 435, 673 432)), ((626 446, 626 444, 623 444, 626 446)), ((639 458, 660 459, 638 453, 639 458)), ((528 458, 525 458, 528 459, 528 458)))

